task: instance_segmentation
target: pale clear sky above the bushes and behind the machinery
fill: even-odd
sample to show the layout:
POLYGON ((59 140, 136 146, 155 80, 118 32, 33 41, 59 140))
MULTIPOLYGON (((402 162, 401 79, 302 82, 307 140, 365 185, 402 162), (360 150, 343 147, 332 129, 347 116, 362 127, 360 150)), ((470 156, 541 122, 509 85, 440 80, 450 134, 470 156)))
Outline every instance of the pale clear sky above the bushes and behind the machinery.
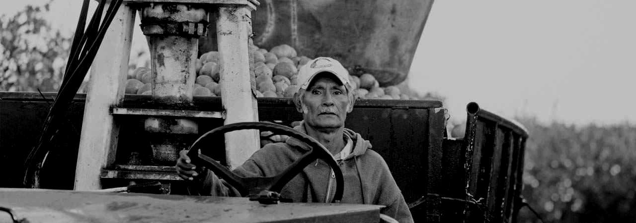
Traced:
MULTIPOLYGON (((0 15, 43 3, 10 1, 0 15)), ((71 33, 81 1, 54 3, 53 26, 71 33)), ((453 120, 465 119, 466 104, 475 101, 504 117, 633 124, 634 10, 633 0, 438 0, 407 81, 416 91, 445 96, 453 120)), ((141 34, 133 45, 147 49, 141 34)))

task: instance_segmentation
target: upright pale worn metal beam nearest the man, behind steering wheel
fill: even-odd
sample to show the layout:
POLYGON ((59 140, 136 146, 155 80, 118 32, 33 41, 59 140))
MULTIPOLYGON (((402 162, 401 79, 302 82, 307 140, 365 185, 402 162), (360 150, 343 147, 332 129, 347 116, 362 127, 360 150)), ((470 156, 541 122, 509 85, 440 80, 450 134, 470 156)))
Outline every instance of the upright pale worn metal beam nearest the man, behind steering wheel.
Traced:
MULTIPOLYGON (((251 9, 247 6, 219 7, 217 39, 221 65, 221 101, 226 110, 225 124, 258 121, 253 78, 249 72, 248 42, 252 33, 251 9)), ((225 134, 227 164, 241 165, 260 148, 256 130, 225 134)))

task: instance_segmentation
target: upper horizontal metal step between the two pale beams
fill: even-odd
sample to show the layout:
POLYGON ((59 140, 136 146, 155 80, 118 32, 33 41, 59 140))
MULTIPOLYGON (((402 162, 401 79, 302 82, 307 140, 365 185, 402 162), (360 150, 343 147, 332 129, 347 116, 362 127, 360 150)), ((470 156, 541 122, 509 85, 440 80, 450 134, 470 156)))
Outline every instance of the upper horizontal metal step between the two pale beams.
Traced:
POLYGON ((143 115, 143 116, 169 116, 169 117, 191 117, 191 118, 223 118, 223 112, 207 112, 193 110, 169 110, 169 109, 149 109, 149 108, 113 108, 111 115, 143 115))

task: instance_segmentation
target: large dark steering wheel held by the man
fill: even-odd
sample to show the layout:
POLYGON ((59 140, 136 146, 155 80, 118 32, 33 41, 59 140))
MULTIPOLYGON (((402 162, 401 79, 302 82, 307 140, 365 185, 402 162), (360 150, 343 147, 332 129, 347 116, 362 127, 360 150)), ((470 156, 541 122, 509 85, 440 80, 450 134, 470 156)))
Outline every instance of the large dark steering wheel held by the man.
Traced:
POLYGON ((236 188, 242 196, 254 196, 254 194, 263 194, 268 193, 269 191, 279 194, 280 190, 282 190, 287 182, 291 181, 291 179, 305 169, 309 163, 314 162, 316 159, 321 159, 327 162, 336 176, 336 194, 331 202, 339 203, 340 200, 342 200, 344 188, 342 170, 338 167, 338 163, 333 160, 331 153, 329 153, 329 151, 314 138, 284 125, 268 122, 240 122, 223 125, 216 129, 212 129, 211 131, 206 132, 203 136, 199 137, 197 141, 190 146, 188 156, 190 156, 191 162, 197 165, 197 168, 203 166, 212 170, 214 174, 217 174, 220 178, 224 179, 236 188), (221 165, 221 163, 203 154, 202 151, 204 151, 204 148, 209 148, 208 145, 218 143, 219 140, 223 140, 223 134, 226 132, 245 129, 271 131, 276 135, 294 137, 307 144, 310 147, 310 150, 298 158, 298 160, 291 163, 291 165, 289 165, 289 167, 283 170, 280 174, 268 177, 239 177, 239 175, 234 174, 230 171, 230 169, 221 165))

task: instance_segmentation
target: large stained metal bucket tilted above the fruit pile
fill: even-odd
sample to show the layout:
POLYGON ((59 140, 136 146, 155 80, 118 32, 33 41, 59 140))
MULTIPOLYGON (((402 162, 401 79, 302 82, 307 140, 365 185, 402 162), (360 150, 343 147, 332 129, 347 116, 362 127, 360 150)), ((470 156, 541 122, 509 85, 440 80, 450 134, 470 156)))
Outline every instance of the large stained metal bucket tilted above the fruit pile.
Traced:
MULTIPOLYGON (((254 44, 293 46, 298 55, 338 59, 352 73, 372 73, 380 86, 403 82, 432 0, 267 0, 254 12, 254 44)), ((214 27, 211 27, 211 32, 214 27)), ((200 41, 216 50, 216 35, 200 41)), ((419 75, 419 74, 417 74, 419 75)))

